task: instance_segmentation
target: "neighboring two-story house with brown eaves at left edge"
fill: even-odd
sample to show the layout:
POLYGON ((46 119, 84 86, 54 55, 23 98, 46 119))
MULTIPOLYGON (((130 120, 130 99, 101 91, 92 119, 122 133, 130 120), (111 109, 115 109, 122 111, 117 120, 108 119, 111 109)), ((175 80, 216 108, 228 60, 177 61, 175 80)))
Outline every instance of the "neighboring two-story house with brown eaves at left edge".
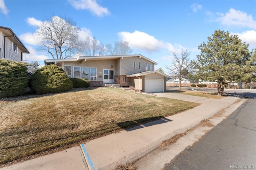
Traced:
POLYGON ((0 59, 23 61, 23 53, 30 53, 11 28, 0 26, 0 38, 0 59))

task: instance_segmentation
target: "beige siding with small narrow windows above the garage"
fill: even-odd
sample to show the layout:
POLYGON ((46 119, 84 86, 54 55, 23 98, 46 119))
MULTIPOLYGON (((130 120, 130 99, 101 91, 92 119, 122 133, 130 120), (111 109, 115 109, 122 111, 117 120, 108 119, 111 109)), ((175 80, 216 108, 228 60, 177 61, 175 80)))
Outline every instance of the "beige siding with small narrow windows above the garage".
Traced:
MULTIPOLYGON (((122 75, 130 75, 150 70, 150 63, 146 59, 140 57, 123 57, 122 62, 122 75), (133 61, 136 61, 136 69, 133 68, 133 61), (139 69, 139 62, 141 62, 141 69, 139 69), (148 63, 148 70, 146 70, 146 63, 148 63)), ((152 70, 154 70, 154 63, 152 64, 152 70)))

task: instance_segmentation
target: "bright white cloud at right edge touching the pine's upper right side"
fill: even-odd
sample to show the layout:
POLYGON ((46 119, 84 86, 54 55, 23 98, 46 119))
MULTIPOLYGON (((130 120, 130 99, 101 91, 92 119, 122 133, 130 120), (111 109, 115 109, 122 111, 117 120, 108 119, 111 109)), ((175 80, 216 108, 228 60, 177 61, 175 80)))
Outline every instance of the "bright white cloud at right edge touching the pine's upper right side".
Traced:
POLYGON ((250 44, 250 47, 256 48, 256 31, 250 30, 242 33, 231 32, 230 34, 237 35, 242 40, 242 42, 246 42, 250 44))

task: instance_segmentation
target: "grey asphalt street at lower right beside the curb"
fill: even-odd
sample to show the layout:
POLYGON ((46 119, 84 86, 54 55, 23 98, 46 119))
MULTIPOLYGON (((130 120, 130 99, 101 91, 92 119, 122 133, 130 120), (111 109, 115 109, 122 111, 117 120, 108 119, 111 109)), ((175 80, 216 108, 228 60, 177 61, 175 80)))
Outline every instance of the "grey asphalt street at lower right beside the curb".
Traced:
POLYGON ((248 100, 165 169, 256 169, 256 93, 236 93, 246 93, 248 100))

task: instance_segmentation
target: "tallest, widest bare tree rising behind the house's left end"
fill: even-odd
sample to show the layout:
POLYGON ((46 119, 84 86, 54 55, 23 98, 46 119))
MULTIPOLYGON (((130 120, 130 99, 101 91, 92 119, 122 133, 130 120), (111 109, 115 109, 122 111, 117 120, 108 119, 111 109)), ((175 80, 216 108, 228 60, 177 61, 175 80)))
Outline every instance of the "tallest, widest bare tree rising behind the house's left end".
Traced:
POLYGON ((52 55, 53 59, 70 57, 78 50, 78 31, 76 23, 66 16, 54 14, 45 18, 35 34, 41 40, 38 50, 52 55))

